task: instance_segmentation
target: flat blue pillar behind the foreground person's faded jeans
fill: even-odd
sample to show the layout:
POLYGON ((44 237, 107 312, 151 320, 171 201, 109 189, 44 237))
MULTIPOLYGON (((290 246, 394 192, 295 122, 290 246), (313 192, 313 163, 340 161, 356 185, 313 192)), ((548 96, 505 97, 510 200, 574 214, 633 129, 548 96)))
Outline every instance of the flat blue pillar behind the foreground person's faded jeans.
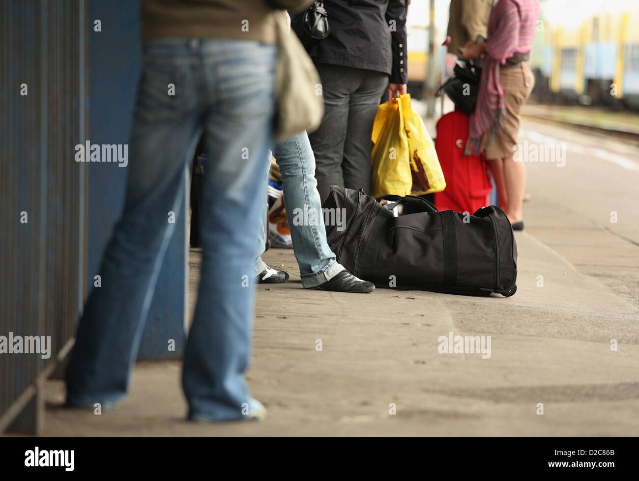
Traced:
MULTIPOLYGON (((139 3, 134 0, 89 0, 88 140, 92 144, 129 143, 141 65, 138 10, 139 3), (96 20, 100 20, 101 31, 96 31, 96 20)), ((121 213, 127 168, 102 162, 86 165, 89 169, 87 279, 90 290, 113 225, 121 213)), ((185 195, 142 335, 139 360, 180 358, 183 353, 188 285, 187 210, 185 195), (174 340, 174 351, 168 349, 170 339, 174 340)))

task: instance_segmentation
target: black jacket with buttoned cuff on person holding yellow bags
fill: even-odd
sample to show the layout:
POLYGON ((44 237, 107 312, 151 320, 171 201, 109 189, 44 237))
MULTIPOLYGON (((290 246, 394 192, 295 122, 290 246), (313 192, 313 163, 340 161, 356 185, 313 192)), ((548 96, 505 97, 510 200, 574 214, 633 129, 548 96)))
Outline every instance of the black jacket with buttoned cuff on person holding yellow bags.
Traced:
POLYGON ((406 0, 325 0, 330 34, 309 54, 316 63, 377 70, 406 83, 406 0))

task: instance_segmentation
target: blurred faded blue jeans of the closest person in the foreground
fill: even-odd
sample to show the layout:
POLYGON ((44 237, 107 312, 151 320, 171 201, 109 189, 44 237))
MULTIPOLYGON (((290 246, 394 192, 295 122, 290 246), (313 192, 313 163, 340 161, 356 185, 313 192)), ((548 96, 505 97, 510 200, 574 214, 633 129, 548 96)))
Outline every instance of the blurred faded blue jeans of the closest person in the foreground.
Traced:
POLYGON ((79 324, 66 370, 67 403, 114 404, 127 392, 175 226, 167 215, 181 213, 185 172, 204 132, 211 165, 204 170, 202 272, 182 386, 190 418, 242 418, 250 400, 243 372, 272 145, 276 47, 157 39, 143 50, 125 206, 100 268, 102 287, 91 292, 79 324), (169 84, 176 95, 167 95, 169 84))

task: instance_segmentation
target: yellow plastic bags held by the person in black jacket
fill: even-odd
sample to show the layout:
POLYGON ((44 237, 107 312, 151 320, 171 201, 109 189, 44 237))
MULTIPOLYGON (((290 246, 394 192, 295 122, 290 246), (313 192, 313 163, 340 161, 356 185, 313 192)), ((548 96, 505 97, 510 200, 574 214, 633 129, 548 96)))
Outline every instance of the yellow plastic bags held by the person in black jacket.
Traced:
POLYGON ((446 187, 435 144, 410 95, 380 105, 373 123, 373 195, 420 195, 446 187))

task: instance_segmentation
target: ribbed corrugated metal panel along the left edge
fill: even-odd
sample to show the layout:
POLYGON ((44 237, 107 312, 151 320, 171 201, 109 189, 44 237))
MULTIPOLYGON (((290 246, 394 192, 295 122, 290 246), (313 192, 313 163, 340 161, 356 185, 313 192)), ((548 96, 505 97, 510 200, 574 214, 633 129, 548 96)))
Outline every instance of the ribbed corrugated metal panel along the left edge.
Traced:
POLYGON ((73 156, 87 131, 86 21, 84 0, 0 0, 0 335, 51 340, 48 359, 0 354, 0 429, 82 305, 86 171, 73 156))

